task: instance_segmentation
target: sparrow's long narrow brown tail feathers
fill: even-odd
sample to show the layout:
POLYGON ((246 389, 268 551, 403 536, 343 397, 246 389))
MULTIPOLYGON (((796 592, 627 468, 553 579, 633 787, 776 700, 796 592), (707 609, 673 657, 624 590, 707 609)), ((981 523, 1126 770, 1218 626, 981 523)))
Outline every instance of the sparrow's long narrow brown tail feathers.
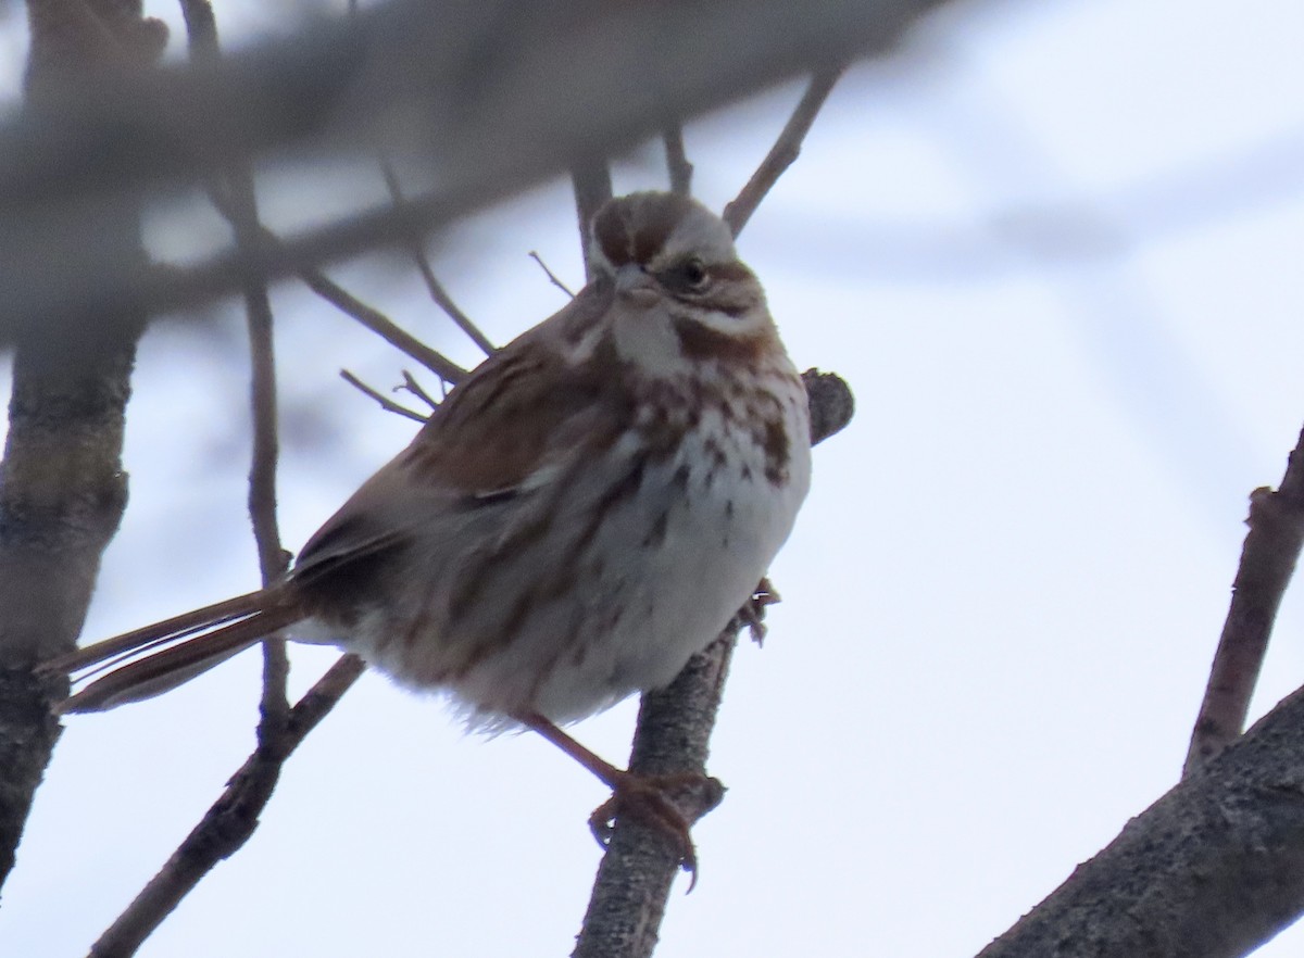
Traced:
POLYGON ((176 688, 301 618, 283 592, 262 589, 52 658, 40 671, 73 682, 106 673, 55 706, 103 712, 176 688))

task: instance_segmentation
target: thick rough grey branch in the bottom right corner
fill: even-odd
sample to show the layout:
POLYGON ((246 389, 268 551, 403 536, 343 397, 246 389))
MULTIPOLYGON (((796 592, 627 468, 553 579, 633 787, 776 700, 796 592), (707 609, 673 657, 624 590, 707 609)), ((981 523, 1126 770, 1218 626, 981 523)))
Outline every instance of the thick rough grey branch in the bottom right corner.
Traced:
POLYGON ((1304 912, 1304 692, 1189 776, 981 958, 1234 958, 1304 912))

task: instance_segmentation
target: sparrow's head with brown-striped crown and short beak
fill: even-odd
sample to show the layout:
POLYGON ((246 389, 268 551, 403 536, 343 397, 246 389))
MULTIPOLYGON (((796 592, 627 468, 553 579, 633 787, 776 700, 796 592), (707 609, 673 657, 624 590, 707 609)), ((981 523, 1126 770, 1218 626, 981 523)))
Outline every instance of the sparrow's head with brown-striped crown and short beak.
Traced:
POLYGON ((681 328, 692 323, 730 339, 773 331, 729 227, 695 199, 648 192, 609 201, 593 216, 589 261, 626 302, 668 304, 681 328))

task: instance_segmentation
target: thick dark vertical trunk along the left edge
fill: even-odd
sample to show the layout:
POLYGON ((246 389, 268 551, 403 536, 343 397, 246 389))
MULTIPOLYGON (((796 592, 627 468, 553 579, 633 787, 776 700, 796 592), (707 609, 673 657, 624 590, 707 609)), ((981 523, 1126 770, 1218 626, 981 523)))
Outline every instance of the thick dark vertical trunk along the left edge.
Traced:
MULTIPOLYGON (((30 0, 29 12, 33 99, 73 76, 113 86, 123 70, 147 68, 160 48, 160 25, 129 5, 78 0, 69 9, 30 0)), ((39 269, 53 287, 76 283, 87 262, 121 283, 143 261, 138 214, 132 198, 86 203, 76 215, 65 210, 44 249, 0 222, 0 246, 18 252, 0 259, 0 288, 21 285, 25 262, 37 253, 47 254, 39 269)), ((100 555, 126 504, 124 411, 145 322, 130 300, 83 302, 76 315, 53 318, 16 315, 21 309, 7 298, 5 314, 21 332, 0 467, 0 882, 59 738, 50 699, 67 691, 65 683, 51 688, 31 666, 76 643, 100 555), (43 330, 51 319, 78 335, 43 330)))

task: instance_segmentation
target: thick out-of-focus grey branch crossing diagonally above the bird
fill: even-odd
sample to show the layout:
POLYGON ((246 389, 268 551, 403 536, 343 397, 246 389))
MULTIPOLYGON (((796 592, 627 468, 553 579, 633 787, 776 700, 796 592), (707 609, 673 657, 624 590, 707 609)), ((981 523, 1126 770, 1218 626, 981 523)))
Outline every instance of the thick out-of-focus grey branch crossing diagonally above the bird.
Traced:
POLYGON ((59 335, 91 302, 156 313, 239 288, 245 265, 231 253, 125 275, 90 262, 51 283, 37 266, 57 249, 60 216, 106 190, 156 194, 273 150, 283 160, 361 155, 377 142, 439 184, 400 210, 368 210, 265 250, 259 267, 275 278, 402 245, 673 117, 884 53, 944 1, 445 0, 432 17, 428 3, 395 0, 220 64, 65 91, 0 125, 0 222, 9 224, 0 259, 31 267, 14 270, 22 283, 7 291, 0 341, 23 322, 59 335), (33 237, 40 249, 30 249, 33 237))

